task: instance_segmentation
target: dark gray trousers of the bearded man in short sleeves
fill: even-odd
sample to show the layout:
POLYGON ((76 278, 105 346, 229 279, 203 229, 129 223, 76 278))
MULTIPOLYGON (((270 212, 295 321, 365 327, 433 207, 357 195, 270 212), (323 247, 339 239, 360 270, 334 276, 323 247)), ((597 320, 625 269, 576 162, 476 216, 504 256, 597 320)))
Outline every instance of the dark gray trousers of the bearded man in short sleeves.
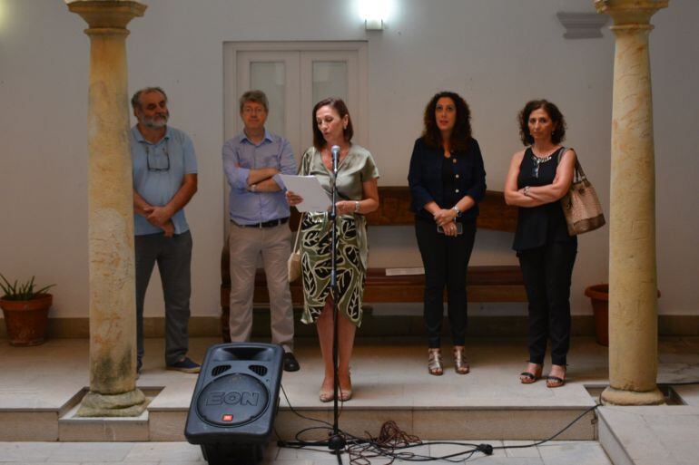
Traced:
POLYGON ((165 364, 181 360, 189 348, 187 324, 192 294, 192 234, 134 237, 136 252, 136 337, 138 359, 143 360, 143 301, 153 266, 158 263, 165 298, 165 364))

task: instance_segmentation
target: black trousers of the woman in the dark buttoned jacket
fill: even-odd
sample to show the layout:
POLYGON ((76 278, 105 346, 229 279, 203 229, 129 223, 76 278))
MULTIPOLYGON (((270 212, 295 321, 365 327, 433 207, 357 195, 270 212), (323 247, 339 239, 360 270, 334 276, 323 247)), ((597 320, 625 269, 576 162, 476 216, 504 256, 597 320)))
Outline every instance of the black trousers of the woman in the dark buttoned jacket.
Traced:
POLYGON ((438 348, 440 344, 445 286, 451 337, 454 345, 464 345, 468 316, 466 272, 476 238, 476 222, 464 223, 463 234, 447 237, 437 232, 437 225, 433 221, 416 218, 415 235, 425 266, 423 313, 429 348, 438 348))

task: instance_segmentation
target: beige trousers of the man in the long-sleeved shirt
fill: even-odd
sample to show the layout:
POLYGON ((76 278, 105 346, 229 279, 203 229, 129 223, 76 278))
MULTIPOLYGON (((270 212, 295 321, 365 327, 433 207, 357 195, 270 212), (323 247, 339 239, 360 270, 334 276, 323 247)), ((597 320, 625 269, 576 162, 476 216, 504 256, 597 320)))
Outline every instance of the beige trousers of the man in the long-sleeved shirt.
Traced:
POLYGON ((291 254, 289 224, 273 228, 243 228, 231 222, 228 237, 231 253, 231 342, 250 340, 252 295, 257 259, 262 257, 270 293, 271 342, 285 352, 293 351, 293 307, 289 290, 287 260, 291 254))

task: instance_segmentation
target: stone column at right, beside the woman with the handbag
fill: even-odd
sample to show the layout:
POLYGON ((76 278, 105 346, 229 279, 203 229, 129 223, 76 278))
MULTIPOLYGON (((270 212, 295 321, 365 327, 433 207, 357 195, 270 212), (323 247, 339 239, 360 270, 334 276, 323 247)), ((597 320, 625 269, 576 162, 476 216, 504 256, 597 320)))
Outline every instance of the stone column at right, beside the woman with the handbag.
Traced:
POLYGON ((609 382, 602 401, 664 403, 657 376, 655 155, 648 35, 667 0, 596 0, 615 34, 609 220, 609 382))

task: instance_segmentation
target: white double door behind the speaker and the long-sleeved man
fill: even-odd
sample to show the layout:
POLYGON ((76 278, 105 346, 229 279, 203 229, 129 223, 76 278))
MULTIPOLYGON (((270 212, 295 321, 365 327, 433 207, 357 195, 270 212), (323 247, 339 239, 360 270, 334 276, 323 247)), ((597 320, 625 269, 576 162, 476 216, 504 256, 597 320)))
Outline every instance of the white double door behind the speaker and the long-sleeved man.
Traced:
POLYGON ((225 53, 227 74, 231 74, 225 79, 226 138, 242 130, 238 99, 243 92, 258 89, 270 101, 267 129, 290 141, 297 160, 313 143, 313 106, 328 97, 347 103, 353 140, 366 144, 366 43, 230 45, 225 53))

